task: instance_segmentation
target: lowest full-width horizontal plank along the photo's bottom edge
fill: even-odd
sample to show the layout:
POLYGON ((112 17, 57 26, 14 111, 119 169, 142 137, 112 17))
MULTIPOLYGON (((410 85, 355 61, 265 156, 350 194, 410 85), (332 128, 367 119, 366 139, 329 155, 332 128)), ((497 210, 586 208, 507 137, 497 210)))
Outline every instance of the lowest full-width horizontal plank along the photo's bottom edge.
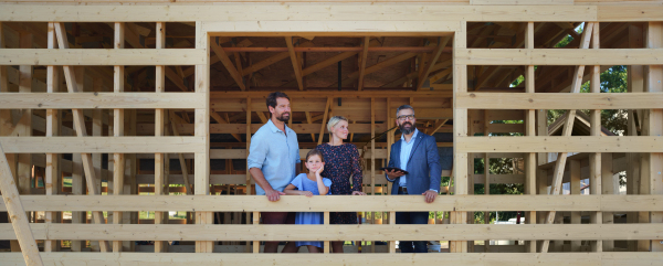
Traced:
MULTIPOLYGON (((182 245, 183 246, 183 245, 182 245)), ((219 246, 221 247, 221 246, 219 246)), ((349 251, 346 251, 349 252, 349 251)), ((182 264, 224 264, 241 265, 246 262, 255 264, 286 266, 302 265, 312 260, 311 254, 149 254, 149 253, 125 253, 125 254, 98 254, 98 253, 52 253, 42 254, 44 262, 49 265, 80 265, 80 264, 120 264, 127 266, 138 265, 167 265, 177 266, 182 264)), ((396 266, 403 264, 432 265, 439 263, 441 257, 452 265, 541 265, 541 266, 585 266, 585 265, 619 265, 629 262, 633 266, 655 265, 663 256, 659 253, 567 253, 559 254, 525 254, 525 253, 474 253, 474 254, 317 254, 315 262, 325 265, 345 264, 348 266, 396 266)), ((0 259, 8 266, 22 266, 24 262, 20 254, 2 253, 0 259)))

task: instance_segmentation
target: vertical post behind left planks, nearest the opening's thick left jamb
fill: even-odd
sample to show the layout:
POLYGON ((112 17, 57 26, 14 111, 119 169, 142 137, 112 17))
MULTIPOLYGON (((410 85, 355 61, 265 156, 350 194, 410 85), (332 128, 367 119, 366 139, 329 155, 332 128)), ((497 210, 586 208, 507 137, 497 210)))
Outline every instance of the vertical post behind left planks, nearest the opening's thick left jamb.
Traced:
MULTIPOLYGON (((166 47, 166 23, 157 22, 156 28, 157 34, 157 44, 156 49, 165 49, 166 47)), ((155 92, 164 93, 166 92, 166 66, 157 65, 155 71, 155 92)), ((164 109, 155 110, 155 137, 164 136, 164 109)), ((164 194, 164 153, 155 153, 155 195, 164 194)), ((187 188, 190 190, 190 188, 187 188)), ((155 224, 161 224, 164 222, 164 214, 168 216, 168 212, 155 212, 155 224)), ((155 253, 167 252, 168 242, 164 241, 155 241, 155 253)))

